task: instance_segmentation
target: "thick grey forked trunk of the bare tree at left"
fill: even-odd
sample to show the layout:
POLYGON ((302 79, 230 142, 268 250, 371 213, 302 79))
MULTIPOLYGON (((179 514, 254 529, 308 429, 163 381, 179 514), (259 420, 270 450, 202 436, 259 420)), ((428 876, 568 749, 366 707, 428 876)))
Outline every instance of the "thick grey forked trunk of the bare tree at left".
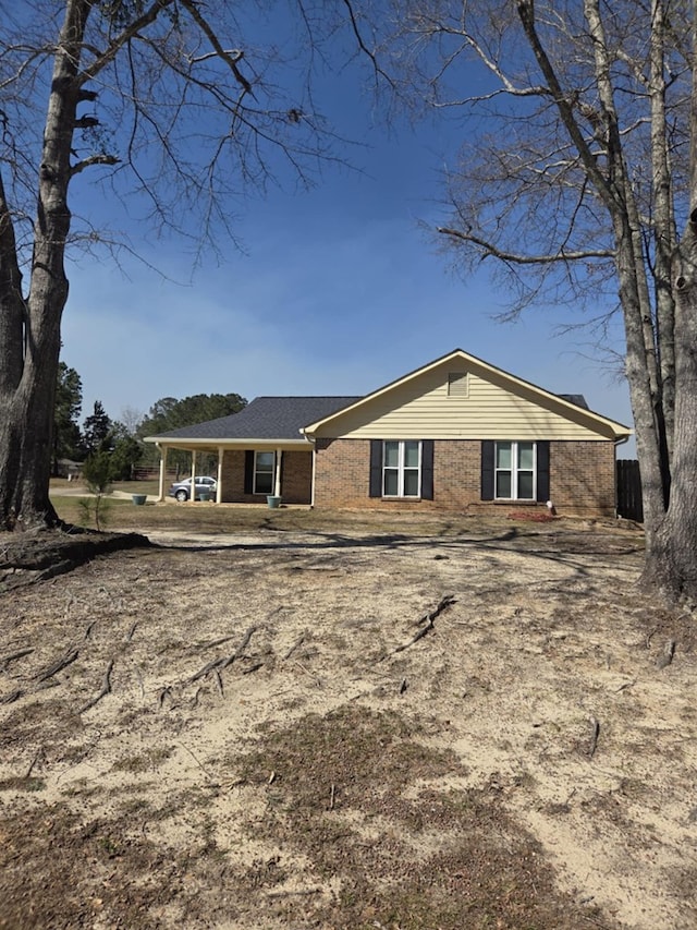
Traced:
POLYGON ((69 0, 44 134, 29 295, 22 299, 11 214, 0 186, 0 526, 56 526, 49 499, 60 325, 68 300, 68 188, 82 39, 91 3, 69 0))

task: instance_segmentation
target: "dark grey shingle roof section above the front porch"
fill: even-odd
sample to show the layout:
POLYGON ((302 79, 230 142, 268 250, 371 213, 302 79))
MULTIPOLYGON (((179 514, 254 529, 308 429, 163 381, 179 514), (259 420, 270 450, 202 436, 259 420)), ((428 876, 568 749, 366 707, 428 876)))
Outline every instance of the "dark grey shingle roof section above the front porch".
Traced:
POLYGON ((299 439, 301 428, 360 397, 257 397, 239 413, 148 436, 149 439, 299 439))

